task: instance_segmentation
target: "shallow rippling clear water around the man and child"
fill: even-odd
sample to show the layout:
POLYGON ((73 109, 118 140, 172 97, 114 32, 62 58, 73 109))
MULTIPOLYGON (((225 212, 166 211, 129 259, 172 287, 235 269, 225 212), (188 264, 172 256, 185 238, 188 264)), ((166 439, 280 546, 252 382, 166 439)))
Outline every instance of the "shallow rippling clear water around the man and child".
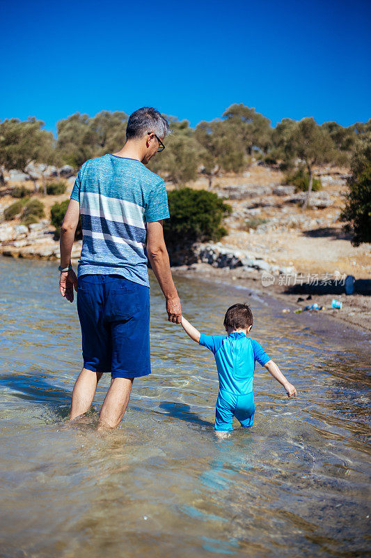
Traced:
POLYGON ((255 427, 218 440, 212 354, 166 321, 153 282, 152 375, 134 382, 121 428, 102 434, 109 377, 91 412, 66 423, 81 347, 55 265, 0 259, 0 273, 3 555, 366 555, 370 370, 356 343, 260 296, 178 280, 205 333, 223 333, 223 312, 248 299, 253 338, 299 392, 287 399, 257 365, 255 427))

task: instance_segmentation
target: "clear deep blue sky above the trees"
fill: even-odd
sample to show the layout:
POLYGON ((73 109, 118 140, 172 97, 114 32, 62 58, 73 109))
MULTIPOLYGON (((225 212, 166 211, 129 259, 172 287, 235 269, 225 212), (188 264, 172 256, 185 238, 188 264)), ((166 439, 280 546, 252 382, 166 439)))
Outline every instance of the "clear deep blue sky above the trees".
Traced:
POLYGON ((232 103, 275 125, 371 116, 371 3, 0 0, 0 119, 46 128, 143 105, 189 119, 232 103))

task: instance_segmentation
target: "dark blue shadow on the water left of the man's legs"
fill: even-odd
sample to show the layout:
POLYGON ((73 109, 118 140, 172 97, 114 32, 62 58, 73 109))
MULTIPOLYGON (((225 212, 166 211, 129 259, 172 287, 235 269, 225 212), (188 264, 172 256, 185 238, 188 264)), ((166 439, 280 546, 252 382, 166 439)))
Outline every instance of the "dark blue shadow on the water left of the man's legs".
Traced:
POLYGON ((0 386, 10 389, 11 395, 15 398, 52 407, 59 416, 65 417, 70 412, 71 392, 51 386, 43 379, 19 374, 3 374, 0 376, 0 386))

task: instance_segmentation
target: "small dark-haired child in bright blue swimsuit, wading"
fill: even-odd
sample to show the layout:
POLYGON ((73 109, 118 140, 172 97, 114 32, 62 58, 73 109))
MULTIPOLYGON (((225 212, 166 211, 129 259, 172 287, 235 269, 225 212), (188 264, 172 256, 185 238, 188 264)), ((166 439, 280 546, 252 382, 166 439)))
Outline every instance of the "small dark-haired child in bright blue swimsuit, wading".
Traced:
POLYGON ((234 304, 228 308, 224 317, 227 337, 200 333, 184 316, 182 326, 191 339, 210 349, 215 356, 219 376, 215 430, 220 437, 228 436, 228 432, 233 430, 233 416, 244 428, 253 426, 255 361, 267 368, 283 385, 288 397, 297 396, 297 390, 287 382, 276 363, 269 359, 258 341, 248 338, 248 332, 253 326, 253 314, 247 304, 234 304))

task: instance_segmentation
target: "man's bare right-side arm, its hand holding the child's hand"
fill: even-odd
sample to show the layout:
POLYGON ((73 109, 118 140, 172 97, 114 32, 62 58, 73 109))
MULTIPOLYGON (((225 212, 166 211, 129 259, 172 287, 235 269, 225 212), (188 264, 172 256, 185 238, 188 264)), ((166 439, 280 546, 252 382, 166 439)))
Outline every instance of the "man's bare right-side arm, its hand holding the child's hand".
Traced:
POLYGON ((182 308, 171 275, 168 250, 166 250, 164 241, 162 220, 147 223, 147 253, 152 271, 155 273, 161 291, 164 293, 166 299, 168 321, 180 324, 180 320, 182 319, 182 308))

